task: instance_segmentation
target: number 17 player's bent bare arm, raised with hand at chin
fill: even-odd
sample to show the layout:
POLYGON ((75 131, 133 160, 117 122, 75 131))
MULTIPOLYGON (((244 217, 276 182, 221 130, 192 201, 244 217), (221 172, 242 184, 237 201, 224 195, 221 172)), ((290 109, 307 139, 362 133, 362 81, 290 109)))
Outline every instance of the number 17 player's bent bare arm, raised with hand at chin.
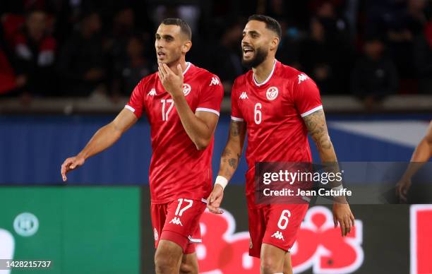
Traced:
POLYGON ((165 90, 174 100, 181 124, 198 150, 207 148, 216 129, 219 117, 212 112, 192 112, 183 93, 183 71, 177 66, 174 73, 166 64, 160 64, 159 77, 165 90))

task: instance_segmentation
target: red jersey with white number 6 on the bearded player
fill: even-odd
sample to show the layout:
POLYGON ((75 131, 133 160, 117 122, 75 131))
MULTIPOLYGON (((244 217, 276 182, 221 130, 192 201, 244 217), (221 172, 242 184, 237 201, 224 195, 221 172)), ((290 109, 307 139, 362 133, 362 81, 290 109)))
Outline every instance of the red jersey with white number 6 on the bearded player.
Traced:
POLYGON ((246 123, 249 207, 256 207, 255 162, 311 162, 308 130, 302 117, 322 108, 316 83, 280 61, 275 61, 263 83, 256 82, 253 71, 236 78, 231 118, 246 123))

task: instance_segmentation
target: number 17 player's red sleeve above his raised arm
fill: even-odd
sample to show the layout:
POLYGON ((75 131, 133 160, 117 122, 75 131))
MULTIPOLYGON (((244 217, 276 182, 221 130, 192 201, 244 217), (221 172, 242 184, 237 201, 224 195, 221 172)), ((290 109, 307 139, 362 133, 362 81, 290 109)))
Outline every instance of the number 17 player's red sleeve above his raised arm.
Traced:
POLYGON ((224 97, 222 83, 217 76, 212 74, 208 81, 203 83, 203 87, 200 90, 196 112, 212 112, 219 116, 222 97, 224 97))

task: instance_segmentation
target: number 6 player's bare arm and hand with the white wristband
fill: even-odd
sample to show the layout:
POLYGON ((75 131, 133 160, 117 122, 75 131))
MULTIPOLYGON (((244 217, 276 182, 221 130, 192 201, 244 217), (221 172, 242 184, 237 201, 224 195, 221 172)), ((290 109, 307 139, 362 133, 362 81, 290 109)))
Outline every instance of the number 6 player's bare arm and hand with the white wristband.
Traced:
MULTIPOLYGON (((218 176, 222 176, 227 181, 232 178, 239 165, 241 151, 243 150, 244 139, 246 136, 246 124, 244 121, 233 121, 229 125, 228 141, 225 145, 222 156, 220 157, 220 168, 218 176)), ((224 189, 220 184, 215 184, 212 193, 207 199, 207 208, 212 213, 222 214, 220 204, 224 197, 224 189)))

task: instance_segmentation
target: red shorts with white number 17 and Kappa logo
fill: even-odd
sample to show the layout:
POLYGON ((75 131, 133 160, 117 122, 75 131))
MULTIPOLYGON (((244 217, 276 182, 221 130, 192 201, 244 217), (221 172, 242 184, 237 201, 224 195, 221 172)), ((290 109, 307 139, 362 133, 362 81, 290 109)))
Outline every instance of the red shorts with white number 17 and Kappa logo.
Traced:
POLYGON ((206 208, 205 200, 179 198, 169 203, 151 205, 155 247, 160 239, 179 244, 184 254, 195 252, 201 242, 200 217, 206 208))

